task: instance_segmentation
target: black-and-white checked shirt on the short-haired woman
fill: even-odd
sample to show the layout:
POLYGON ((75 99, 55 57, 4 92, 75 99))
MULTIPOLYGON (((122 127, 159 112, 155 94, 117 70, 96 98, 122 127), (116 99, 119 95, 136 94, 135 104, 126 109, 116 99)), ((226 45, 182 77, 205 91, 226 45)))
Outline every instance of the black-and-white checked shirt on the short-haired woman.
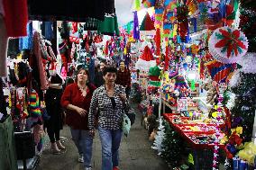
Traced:
POLYGON ((98 125, 106 130, 118 130, 122 127, 124 111, 128 112, 128 101, 122 102, 119 94, 125 94, 124 87, 122 85, 114 86, 114 101, 115 107, 111 103, 110 97, 107 95, 105 85, 102 85, 96 89, 93 94, 90 110, 88 115, 88 128, 94 130, 97 109, 99 110, 98 125))

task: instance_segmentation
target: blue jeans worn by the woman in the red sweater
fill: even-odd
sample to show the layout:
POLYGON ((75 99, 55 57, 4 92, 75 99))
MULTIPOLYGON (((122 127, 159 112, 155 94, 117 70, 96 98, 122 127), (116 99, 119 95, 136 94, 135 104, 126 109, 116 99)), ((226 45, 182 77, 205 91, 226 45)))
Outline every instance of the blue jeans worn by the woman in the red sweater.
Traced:
POLYGON ((91 167, 93 138, 89 135, 88 130, 73 130, 70 128, 72 139, 78 148, 78 153, 83 154, 84 164, 91 167))

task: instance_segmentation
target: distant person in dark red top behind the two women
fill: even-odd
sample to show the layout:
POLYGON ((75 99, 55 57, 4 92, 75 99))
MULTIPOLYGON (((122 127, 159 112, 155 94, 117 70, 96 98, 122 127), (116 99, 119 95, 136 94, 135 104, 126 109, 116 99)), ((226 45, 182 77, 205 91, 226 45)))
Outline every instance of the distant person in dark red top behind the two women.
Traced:
POLYGON ((130 70, 125 67, 123 61, 120 62, 120 67, 116 76, 116 84, 123 85, 126 97, 129 98, 131 91, 131 73, 130 70))

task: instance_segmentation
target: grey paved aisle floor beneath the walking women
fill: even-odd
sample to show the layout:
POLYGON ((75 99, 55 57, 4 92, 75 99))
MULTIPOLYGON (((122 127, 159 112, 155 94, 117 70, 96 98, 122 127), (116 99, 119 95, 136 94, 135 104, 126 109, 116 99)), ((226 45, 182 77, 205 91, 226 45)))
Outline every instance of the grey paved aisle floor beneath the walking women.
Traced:
MULTIPOLYGON (((157 153, 151 149, 151 142, 147 138, 147 130, 141 126, 141 113, 137 113, 137 118, 133 124, 128 138, 123 136, 123 142, 120 149, 120 169, 121 170, 167 170, 165 162, 157 156, 157 153)), ((71 140, 69 127, 64 127, 60 131, 67 151, 61 155, 52 155, 47 148, 41 156, 41 163, 37 170, 83 170, 83 165, 78 163, 78 152, 71 140)), ((48 142, 48 141, 46 141, 48 142)), ((94 139, 94 150, 92 160, 93 170, 101 169, 101 143, 96 134, 94 139)))

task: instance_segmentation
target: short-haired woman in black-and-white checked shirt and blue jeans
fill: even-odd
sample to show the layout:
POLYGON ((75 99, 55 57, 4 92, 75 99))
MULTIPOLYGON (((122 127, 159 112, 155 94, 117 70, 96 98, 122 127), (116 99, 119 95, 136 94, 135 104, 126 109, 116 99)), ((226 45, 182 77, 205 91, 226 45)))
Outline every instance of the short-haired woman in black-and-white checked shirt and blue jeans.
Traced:
POLYGON ((123 86, 114 84, 116 73, 115 67, 105 67, 105 85, 94 92, 89 110, 88 125, 92 137, 95 136, 97 108, 99 111, 98 132, 102 144, 102 170, 119 169, 123 114, 129 108, 123 86))

